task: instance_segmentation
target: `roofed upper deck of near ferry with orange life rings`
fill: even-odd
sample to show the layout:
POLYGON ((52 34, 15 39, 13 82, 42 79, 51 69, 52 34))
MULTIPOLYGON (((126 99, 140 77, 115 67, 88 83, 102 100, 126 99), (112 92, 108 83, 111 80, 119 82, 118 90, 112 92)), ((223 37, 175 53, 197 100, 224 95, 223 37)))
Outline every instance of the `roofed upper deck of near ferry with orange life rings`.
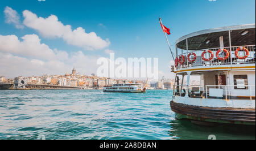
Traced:
POLYGON ((206 29, 187 34, 176 41, 175 63, 176 73, 255 70, 255 24, 206 29))

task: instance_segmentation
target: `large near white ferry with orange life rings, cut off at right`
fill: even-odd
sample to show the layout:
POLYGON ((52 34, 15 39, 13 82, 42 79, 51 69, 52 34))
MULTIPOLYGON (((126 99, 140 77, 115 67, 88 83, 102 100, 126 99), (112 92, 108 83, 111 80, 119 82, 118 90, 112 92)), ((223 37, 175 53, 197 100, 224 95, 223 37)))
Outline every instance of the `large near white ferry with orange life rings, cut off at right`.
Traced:
POLYGON ((171 110, 195 124, 255 127, 255 24, 206 29, 176 41, 171 110), (199 77, 200 85, 191 79, 199 77))

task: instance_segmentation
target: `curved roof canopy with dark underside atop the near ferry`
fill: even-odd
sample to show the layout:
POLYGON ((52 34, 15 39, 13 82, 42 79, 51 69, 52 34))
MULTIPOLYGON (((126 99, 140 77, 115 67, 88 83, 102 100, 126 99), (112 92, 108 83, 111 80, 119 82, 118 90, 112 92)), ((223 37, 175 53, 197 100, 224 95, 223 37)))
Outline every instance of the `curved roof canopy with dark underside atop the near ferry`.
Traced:
POLYGON ((229 31, 232 46, 255 45, 255 24, 234 25, 229 27, 206 29, 187 34, 176 41, 177 48, 187 50, 203 50, 220 48, 219 37, 223 36, 224 47, 229 47, 229 31), (249 31, 242 36, 242 33, 249 31), (207 41, 210 42, 207 44, 207 41))

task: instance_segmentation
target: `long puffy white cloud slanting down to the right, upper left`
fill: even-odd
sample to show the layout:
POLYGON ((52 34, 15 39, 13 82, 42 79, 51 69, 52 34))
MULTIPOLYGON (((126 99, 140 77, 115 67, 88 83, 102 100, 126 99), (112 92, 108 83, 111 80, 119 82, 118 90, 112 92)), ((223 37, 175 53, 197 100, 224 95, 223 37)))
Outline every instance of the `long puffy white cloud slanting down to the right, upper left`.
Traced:
POLYGON ((24 25, 35 29, 45 37, 63 38, 69 45, 79 46, 86 50, 104 49, 110 45, 108 39, 103 40, 95 32, 86 33, 81 27, 72 31, 71 25, 64 25, 55 15, 42 18, 31 11, 24 10, 23 16, 24 25))

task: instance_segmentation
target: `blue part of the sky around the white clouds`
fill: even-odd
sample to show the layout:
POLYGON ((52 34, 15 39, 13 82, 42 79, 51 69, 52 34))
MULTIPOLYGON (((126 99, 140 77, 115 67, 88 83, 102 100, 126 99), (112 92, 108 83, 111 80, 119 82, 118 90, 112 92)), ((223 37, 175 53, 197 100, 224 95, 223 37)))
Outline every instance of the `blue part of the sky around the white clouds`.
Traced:
MULTIPOLYGON (((15 34, 20 38, 26 34, 36 34, 41 39, 41 43, 48 45, 51 49, 66 51, 68 54, 82 51, 84 55, 108 57, 104 50, 110 49, 115 52, 116 57, 157 57, 159 58, 159 70, 168 77, 171 76, 168 69, 171 55, 159 25, 159 16, 162 18, 163 24, 171 28, 172 34, 168 38, 172 49, 175 49, 176 39, 191 32, 228 25, 255 23, 255 0, 216 0, 216 2, 208 0, 1 1, 0 35, 15 34), (86 33, 95 32, 102 40, 108 38, 110 45, 104 49, 84 50, 78 46, 67 44, 62 38, 45 37, 35 29, 26 26, 23 29, 17 29, 13 24, 8 24, 5 21, 3 11, 6 6, 18 12, 21 23, 24 19, 22 15, 24 10, 31 11, 42 18, 48 18, 53 14, 64 25, 71 25, 72 30, 82 27, 86 33)), ((77 64, 69 62, 68 67, 71 68, 71 66, 77 66, 77 64)), ((69 68, 67 72, 69 72, 69 68)), ((32 68, 30 69, 32 70, 32 68)), ((0 75, 19 76, 5 70, 6 68, 0 67, 0 75)), ((47 74, 62 74, 64 72, 44 71, 47 71, 47 74)), ((40 74, 40 71, 20 74, 23 76, 40 74)), ((90 73, 88 71, 83 74, 90 73)))

